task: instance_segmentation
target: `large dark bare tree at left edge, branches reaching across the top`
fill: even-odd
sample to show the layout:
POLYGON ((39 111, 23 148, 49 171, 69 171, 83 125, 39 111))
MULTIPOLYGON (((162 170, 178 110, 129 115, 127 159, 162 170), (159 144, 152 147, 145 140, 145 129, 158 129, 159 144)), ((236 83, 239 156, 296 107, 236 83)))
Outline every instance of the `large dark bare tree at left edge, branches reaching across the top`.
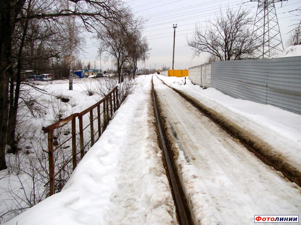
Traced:
MULTIPOLYGON (((123 2, 117 0, 68 0, 73 3, 67 7, 61 0, 3 0, 0 4, 0 170, 6 167, 5 144, 8 132, 9 78, 14 75, 16 61, 13 52, 13 36, 17 24, 26 21, 43 21, 52 31, 52 24, 60 18, 73 16, 78 18, 82 26, 89 32, 99 32, 99 26, 106 26, 108 21, 119 21, 125 17, 127 10, 123 2), (33 8, 31 13, 26 9, 33 8)), ((24 26, 25 27, 25 26, 24 26)), ((25 29, 23 29, 25 31, 25 29)), ((27 32, 25 32, 26 35, 27 32)), ((23 36, 23 35, 22 35, 23 36)), ((21 42, 16 42, 21 43, 21 42)), ((15 48, 19 49, 19 47, 15 48)))

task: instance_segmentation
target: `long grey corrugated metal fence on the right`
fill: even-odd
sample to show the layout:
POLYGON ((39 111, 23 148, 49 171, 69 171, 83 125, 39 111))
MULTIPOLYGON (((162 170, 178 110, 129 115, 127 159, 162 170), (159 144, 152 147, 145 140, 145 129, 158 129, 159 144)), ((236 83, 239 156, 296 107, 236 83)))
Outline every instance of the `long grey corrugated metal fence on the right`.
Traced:
POLYGON ((301 56, 213 62, 211 86, 234 98, 301 114, 301 56))

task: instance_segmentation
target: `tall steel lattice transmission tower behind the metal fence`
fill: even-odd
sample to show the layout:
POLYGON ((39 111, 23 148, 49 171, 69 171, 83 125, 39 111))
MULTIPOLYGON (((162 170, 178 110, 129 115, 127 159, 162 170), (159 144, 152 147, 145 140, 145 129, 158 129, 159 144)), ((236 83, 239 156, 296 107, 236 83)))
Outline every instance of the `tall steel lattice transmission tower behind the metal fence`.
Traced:
POLYGON ((283 51, 283 44, 275 9, 275 3, 287 0, 251 0, 258 1, 253 32, 262 38, 262 55, 269 58, 276 51, 283 51))

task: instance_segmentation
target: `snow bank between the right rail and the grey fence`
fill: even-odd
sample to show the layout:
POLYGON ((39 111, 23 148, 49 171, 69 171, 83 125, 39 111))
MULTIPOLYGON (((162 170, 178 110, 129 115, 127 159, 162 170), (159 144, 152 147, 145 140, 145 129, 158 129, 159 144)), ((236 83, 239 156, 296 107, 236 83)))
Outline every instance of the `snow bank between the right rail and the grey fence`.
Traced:
POLYGON ((159 77, 171 87, 187 93, 259 137, 301 171, 301 115, 272 105, 232 98, 215 88, 203 89, 198 85, 191 85, 189 79, 183 85, 184 78, 159 77))

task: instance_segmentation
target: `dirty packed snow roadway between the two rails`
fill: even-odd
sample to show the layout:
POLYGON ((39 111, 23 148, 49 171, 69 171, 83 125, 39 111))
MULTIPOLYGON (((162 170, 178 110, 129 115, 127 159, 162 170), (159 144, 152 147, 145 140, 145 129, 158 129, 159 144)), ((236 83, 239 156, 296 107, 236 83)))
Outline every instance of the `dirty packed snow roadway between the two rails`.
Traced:
POLYGON ((177 164, 197 224, 253 224, 254 215, 300 215, 300 188, 263 164, 154 76, 179 146, 177 164), (175 134, 176 133, 176 134, 175 134))

